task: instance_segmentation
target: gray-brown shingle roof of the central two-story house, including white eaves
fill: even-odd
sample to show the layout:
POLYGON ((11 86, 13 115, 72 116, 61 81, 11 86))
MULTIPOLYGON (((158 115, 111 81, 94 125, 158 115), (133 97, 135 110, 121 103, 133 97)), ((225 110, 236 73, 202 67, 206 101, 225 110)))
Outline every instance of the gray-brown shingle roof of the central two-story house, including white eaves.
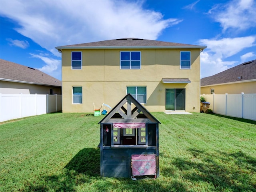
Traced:
POLYGON ((91 43, 82 43, 74 45, 66 45, 56 47, 59 51, 62 49, 99 49, 99 48, 111 48, 111 49, 121 49, 121 48, 197 48, 205 49, 206 46, 190 45, 190 44, 181 44, 181 43, 171 43, 147 39, 138 39, 138 38, 122 38, 114 40, 106 40, 99 42, 91 43))

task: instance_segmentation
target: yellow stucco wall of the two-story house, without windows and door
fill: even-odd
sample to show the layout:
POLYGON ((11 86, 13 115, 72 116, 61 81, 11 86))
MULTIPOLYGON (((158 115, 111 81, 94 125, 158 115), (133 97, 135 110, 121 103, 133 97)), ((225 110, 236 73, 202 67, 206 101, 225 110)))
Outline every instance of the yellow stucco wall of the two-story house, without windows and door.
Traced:
POLYGON ((185 88, 185 110, 200 111, 199 49, 62 50, 62 111, 93 112, 93 103, 112 107, 126 86, 146 86, 150 112, 165 111, 166 88, 185 88), (71 52, 82 51, 82 70, 71 69, 71 52), (120 51, 140 51, 141 69, 120 69, 120 51), (191 69, 180 69, 180 51, 191 51, 191 69), (188 84, 162 83, 162 78, 189 78, 188 84), (72 86, 82 86, 82 104, 72 104, 72 86))

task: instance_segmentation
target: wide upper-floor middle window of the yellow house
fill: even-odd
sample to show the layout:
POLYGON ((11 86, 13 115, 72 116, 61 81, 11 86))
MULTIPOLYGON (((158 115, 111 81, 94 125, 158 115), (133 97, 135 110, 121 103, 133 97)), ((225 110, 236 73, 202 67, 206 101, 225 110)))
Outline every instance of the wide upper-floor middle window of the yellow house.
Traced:
POLYGON ((121 51, 120 69, 140 69, 140 51, 121 51))

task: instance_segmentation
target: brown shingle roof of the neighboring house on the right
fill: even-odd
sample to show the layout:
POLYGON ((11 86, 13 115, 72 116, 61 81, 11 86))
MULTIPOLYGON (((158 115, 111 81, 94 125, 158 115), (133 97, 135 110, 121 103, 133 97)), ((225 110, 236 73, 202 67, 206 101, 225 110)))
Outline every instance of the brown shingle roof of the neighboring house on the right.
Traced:
POLYGON ((245 62, 213 76, 202 78, 201 87, 248 81, 256 81, 256 60, 245 62))

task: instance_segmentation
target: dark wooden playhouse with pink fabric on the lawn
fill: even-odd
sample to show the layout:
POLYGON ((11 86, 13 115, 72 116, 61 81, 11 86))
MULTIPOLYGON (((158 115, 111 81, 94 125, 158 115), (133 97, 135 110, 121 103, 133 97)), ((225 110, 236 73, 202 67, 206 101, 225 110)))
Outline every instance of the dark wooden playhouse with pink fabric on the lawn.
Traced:
POLYGON ((101 176, 133 179, 159 176, 160 122, 131 94, 98 124, 101 176))

